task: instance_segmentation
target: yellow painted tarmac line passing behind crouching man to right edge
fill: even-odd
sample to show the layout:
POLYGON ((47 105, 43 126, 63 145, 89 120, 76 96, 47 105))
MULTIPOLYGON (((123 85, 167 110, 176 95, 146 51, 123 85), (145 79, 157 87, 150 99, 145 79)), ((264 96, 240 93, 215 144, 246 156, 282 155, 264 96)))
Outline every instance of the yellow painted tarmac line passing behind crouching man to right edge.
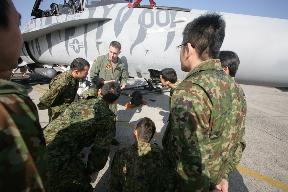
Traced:
MULTIPOLYGON (((136 128, 136 126, 132 126, 130 123, 126 123, 124 121, 120 121, 119 119, 117 119, 117 122, 122 124, 122 125, 124 125, 124 126, 130 127, 132 129, 136 128)), ((157 134, 154 134, 154 137, 157 138, 157 139, 162 140, 162 137, 157 135, 157 134)), ((236 169, 239 172, 243 173, 243 174, 246 174, 248 176, 254 177, 254 178, 258 179, 258 180, 265 181, 265 182, 269 183, 270 185, 273 185, 274 187, 277 187, 277 188, 284 189, 284 190, 288 191, 288 185, 286 185, 285 183, 282 183, 280 181, 277 181, 277 180, 271 179, 269 177, 263 176, 261 174, 258 174, 258 173, 254 172, 252 170, 246 169, 246 168, 241 167, 241 166, 238 166, 236 169)))

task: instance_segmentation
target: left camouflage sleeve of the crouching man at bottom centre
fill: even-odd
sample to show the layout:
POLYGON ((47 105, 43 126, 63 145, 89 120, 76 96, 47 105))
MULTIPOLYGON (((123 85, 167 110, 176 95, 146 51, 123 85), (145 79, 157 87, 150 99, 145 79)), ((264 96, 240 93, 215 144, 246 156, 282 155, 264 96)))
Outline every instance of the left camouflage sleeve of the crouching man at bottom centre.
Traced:
POLYGON ((113 161, 111 164, 111 180, 110 180, 110 185, 109 185, 109 192, 116 192, 116 191, 122 191, 122 185, 120 183, 120 178, 117 174, 119 166, 118 166, 118 161, 119 161, 119 151, 116 151, 113 161))

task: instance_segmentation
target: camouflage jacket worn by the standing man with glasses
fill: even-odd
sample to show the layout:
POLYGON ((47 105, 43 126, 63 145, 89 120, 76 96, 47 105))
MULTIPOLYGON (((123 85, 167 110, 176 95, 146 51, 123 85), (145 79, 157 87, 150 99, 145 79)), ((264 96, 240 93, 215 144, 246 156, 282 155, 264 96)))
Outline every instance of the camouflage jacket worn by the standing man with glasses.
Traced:
POLYGON ((171 100, 163 166, 176 171, 181 191, 209 191, 234 171, 245 148, 244 92, 219 60, 207 60, 187 74, 171 100))

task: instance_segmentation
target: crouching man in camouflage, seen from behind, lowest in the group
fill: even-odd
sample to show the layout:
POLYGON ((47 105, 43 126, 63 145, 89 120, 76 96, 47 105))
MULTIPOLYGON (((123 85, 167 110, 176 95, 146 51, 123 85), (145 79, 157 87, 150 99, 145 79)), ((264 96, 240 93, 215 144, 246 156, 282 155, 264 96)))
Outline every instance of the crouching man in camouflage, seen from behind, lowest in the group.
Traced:
POLYGON ((162 148, 149 143, 154 122, 144 117, 134 130, 135 143, 116 151, 111 165, 110 192, 154 191, 162 160, 162 148))

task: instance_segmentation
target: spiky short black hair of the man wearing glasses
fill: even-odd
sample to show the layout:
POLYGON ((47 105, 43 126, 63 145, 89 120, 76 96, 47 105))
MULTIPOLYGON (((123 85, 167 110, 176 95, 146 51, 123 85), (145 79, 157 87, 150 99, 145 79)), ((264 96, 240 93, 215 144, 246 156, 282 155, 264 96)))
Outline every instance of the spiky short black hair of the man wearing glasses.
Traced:
MULTIPOLYGON (((200 60, 218 59, 225 37, 225 21, 220 14, 205 14, 188 23, 182 33, 183 43, 190 43, 200 60)), ((183 51, 185 50, 184 45, 183 51)))

